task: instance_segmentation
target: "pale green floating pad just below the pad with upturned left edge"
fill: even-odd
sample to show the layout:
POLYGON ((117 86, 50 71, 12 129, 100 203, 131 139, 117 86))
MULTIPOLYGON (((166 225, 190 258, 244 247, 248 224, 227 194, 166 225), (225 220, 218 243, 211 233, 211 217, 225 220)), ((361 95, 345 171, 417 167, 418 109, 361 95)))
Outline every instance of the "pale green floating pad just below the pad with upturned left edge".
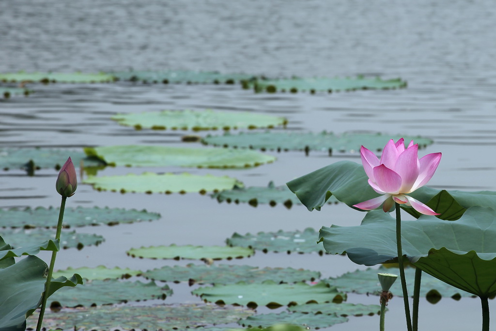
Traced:
POLYGON ((243 186, 241 182, 227 176, 212 175, 198 176, 187 173, 180 175, 167 173, 156 174, 145 172, 141 175, 127 174, 124 176, 90 177, 83 181, 91 184, 98 191, 137 192, 137 193, 187 193, 187 192, 217 192, 230 190, 235 185, 243 186))

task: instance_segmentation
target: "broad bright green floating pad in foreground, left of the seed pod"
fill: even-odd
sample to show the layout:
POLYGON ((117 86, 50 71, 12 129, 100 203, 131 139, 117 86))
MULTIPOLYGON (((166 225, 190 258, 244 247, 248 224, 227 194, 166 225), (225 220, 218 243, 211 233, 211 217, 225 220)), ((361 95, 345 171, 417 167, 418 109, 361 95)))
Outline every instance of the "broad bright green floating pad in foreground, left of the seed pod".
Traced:
POLYGON ((325 282, 316 285, 304 282, 278 284, 272 280, 200 287, 191 293, 208 302, 269 307, 308 302, 341 302, 346 298, 346 294, 338 292, 325 282))

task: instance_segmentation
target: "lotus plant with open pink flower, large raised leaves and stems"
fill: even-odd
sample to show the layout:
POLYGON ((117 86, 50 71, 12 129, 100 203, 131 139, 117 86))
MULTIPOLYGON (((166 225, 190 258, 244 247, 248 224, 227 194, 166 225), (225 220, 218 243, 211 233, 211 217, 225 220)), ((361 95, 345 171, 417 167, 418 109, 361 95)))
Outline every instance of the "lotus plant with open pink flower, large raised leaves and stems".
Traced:
POLYGON ((346 253, 350 260, 362 265, 397 262, 409 331, 418 329, 422 271, 479 296, 482 330, 489 331, 488 298, 496 295, 496 247, 487 238, 496 230, 496 193, 425 187, 441 153, 418 159, 418 147, 413 141, 405 147, 403 139, 389 140, 380 159, 362 146, 361 157, 363 167, 349 161, 337 162, 287 183, 310 211, 320 210, 331 196, 352 208, 368 211, 360 226, 322 227, 319 242, 323 242, 326 252, 346 253), (379 207, 382 210, 372 210, 379 207), (401 221, 401 209, 418 219, 401 221), (389 214, 393 210, 395 222, 389 214), (416 267, 413 323, 405 259, 416 267))

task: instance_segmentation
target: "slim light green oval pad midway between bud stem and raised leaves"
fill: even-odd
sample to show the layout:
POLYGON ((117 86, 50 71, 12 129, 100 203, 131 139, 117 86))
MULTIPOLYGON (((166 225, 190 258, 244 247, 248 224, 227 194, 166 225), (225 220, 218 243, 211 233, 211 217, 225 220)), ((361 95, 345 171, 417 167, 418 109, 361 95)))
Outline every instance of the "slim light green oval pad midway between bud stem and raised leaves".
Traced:
POLYGON ((141 248, 132 248, 126 252, 127 255, 135 258, 147 259, 212 259, 212 260, 232 260, 248 258, 254 254, 252 249, 244 247, 228 246, 150 246, 141 248))

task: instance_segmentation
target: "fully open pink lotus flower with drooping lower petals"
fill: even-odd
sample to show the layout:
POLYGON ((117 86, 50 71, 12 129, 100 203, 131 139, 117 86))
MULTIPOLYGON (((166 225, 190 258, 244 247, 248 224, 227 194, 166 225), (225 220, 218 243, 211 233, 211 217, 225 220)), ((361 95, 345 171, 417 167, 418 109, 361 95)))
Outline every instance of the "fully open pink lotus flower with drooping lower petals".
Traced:
POLYGON ((382 210, 388 212, 394 202, 398 202, 412 206, 425 215, 439 215, 419 200, 407 196, 429 182, 441 160, 441 153, 428 154, 419 160, 418 150, 419 145, 414 145, 413 140, 405 149, 403 138, 396 143, 391 139, 379 161, 374 153, 362 146, 360 154, 369 184, 382 196, 355 204, 354 207, 372 210, 383 203, 382 210))

